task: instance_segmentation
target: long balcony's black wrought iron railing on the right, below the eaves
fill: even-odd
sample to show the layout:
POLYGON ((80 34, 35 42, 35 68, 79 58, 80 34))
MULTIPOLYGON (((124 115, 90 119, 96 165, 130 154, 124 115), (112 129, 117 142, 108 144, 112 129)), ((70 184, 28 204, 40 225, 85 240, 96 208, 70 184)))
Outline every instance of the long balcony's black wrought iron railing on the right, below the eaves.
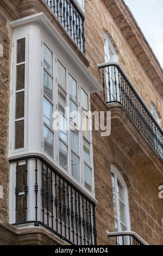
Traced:
POLYGON ((102 69, 106 103, 119 102, 163 160, 163 130, 118 63, 98 65, 102 69))

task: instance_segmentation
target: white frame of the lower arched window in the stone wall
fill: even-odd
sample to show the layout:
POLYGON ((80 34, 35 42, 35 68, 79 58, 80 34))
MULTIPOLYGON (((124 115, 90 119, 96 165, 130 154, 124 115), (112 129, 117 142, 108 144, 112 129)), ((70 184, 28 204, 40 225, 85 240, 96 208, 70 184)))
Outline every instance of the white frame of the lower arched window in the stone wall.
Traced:
MULTIPOLYGON (((120 199, 118 197, 118 191, 117 191, 117 180, 120 182, 121 186, 123 187, 124 191, 124 205, 125 205, 125 213, 126 213, 126 225, 123 223, 124 226, 126 226, 127 230, 130 230, 130 214, 129 214, 129 202, 128 202, 128 190, 127 190, 127 185, 126 182, 123 179, 122 174, 120 171, 114 166, 114 164, 111 164, 111 173, 114 174, 115 177, 115 196, 116 196, 116 209, 117 209, 117 217, 114 215, 114 218, 116 218, 117 223, 118 223, 118 231, 122 231, 120 229, 120 209, 119 209, 119 204, 118 200, 120 199)), ((121 199, 120 199, 121 200, 121 199)))

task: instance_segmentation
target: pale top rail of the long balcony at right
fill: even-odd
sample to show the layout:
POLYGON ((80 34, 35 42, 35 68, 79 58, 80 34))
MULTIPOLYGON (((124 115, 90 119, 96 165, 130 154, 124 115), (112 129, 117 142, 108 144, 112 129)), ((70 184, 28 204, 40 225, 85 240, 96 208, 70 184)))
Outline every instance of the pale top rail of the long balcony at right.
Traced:
POLYGON ((137 94, 137 96, 139 97, 139 99, 143 102, 143 104, 145 105, 145 107, 148 109, 149 113, 151 113, 153 119, 155 120, 156 124, 159 126, 159 128, 161 129, 161 131, 163 132, 163 129, 161 127, 161 125, 158 123, 158 121, 155 119, 153 113, 151 112, 151 109, 149 109, 149 107, 147 106, 146 102, 142 99, 141 95, 139 94, 139 92, 137 92, 137 89, 135 88, 135 86, 133 85, 133 83, 130 81, 128 75, 126 74, 126 72, 124 72, 122 66, 117 63, 117 62, 108 62, 108 63, 102 63, 102 64, 98 64, 98 68, 104 68, 108 65, 115 65, 117 66, 117 68, 119 68, 121 70, 121 72, 123 73, 123 75, 127 78, 127 80, 129 81, 129 83, 131 84, 131 87, 134 89, 135 93, 137 94))

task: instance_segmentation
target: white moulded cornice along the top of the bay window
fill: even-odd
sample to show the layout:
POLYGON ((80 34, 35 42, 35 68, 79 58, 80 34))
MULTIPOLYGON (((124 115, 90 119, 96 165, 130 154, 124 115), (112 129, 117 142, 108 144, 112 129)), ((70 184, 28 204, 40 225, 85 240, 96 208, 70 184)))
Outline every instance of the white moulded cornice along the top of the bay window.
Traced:
POLYGON ((41 27, 51 35, 51 38, 57 42, 57 44, 60 46, 63 53, 70 59, 70 62, 76 65, 80 74, 82 74, 82 76, 85 77, 85 80, 87 80, 87 84, 90 88, 90 93, 102 91, 102 86, 96 81, 95 77, 92 76, 90 71, 83 64, 82 60, 79 59, 79 57, 73 51, 71 46, 67 44, 66 40, 62 37, 62 35, 58 32, 58 30, 53 26, 52 22, 47 18, 47 16, 44 13, 38 13, 38 14, 24 17, 22 19, 11 21, 10 26, 14 28, 14 27, 31 23, 31 22, 39 23, 41 27))

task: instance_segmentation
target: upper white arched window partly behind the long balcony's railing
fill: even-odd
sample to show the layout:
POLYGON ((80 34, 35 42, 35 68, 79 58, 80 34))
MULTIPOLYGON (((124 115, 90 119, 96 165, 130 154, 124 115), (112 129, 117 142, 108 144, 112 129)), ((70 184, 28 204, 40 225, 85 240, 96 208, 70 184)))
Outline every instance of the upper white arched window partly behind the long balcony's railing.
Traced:
MULTIPOLYGON (((117 54, 115 51, 112 42, 109 39, 109 36, 104 33, 104 52, 105 52, 105 62, 117 62, 117 54)), ((114 67, 106 68, 106 89, 107 89, 107 97, 108 101, 116 100, 116 88, 115 88, 115 70, 114 67), (109 88, 110 81, 110 88, 109 88)), ((116 81, 118 81, 118 77, 116 77, 116 81)))

